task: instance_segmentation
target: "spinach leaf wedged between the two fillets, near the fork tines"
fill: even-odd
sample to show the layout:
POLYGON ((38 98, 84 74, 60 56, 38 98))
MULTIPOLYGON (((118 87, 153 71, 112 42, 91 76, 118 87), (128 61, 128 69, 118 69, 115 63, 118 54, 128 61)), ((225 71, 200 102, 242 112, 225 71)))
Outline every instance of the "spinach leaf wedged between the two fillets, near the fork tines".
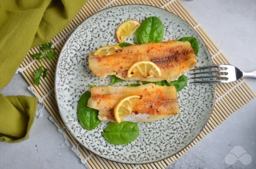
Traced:
POLYGON ((178 78, 178 80, 171 81, 171 82, 167 82, 166 80, 164 80, 164 81, 157 81, 157 82, 143 81, 142 83, 143 84, 154 83, 155 85, 159 85, 159 86, 174 85, 178 92, 181 89, 185 88, 185 86, 187 86, 187 77, 185 75, 182 75, 178 78))

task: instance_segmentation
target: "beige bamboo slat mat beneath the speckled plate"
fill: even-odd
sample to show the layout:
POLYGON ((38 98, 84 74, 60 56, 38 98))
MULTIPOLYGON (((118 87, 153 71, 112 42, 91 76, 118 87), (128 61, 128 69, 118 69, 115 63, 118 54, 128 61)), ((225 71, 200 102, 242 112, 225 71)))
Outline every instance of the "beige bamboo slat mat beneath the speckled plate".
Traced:
MULTIPOLYGON (((191 16, 191 14, 187 11, 187 9, 181 4, 180 0, 88 0, 88 2, 83 6, 80 12, 75 16, 75 18, 67 25, 64 30, 59 32, 50 42, 57 49, 57 55, 59 55, 62 46, 64 45, 67 37, 71 34, 72 30, 76 28, 76 26, 85 20, 88 16, 94 14, 95 12, 102 10, 107 7, 123 5, 123 4, 146 4, 152 5, 156 7, 163 8, 167 11, 172 12, 180 16, 187 23, 189 23, 201 36, 204 40, 207 48, 211 53, 211 57, 213 59, 214 64, 229 64, 227 58, 223 55, 221 50, 216 46, 216 44, 209 38, 209 36, 204 32, 202 27, 197 23, 197 21, 191 16)), ((40 85, 33 85, 33 71, 35 71, 39 63, 37 60, 33 60, 31 58, 30 53, 39 52, 39 47, 35 47, 29 50, 24 61, 21 63, 18 72, 24 76, 26 81, 30 86, 32 86, 34 93, 40 99, 39 102, 43 103, 46 109, 49 111, 51 120, 57 125, 59 131, 63 132, 64 137, 66 137, 70 143, 73 145, 72 150, 74 150, 77 155, 80 157, 81 162, 85 164, 86 167, 90 169, 95 168, 113 168, 113 169, 163 169, 166 168, 169 164, 177 160, 179 157, 184 155, 191 147, 196 145, 198 141, 203 139, 208 133, 214 130, 218 125, 223 123, 223 121, 228 118, 232 113, 240 109, 244 104, 250 102, 256 95, 248 86, 244 79, 240 79, 238 81, 226 84, 217 84, 217 92, 216 92, 216 103, 213 108, 213 112, 211 117, 202 130, 202 132, 197 136, 194 141, 186 148, 181 150, 176 155, 173 155, 166 160, 162 160, 160 162, 155 162, 151 164, 143 164, 143 165, 128 165, 112 162, 109 160, 105 160, 93 153, 89 150, 80 146, 78 141, 74 139, 71 133, 66 130, 64 127, 64 123, 59 115, 59 111, 57 108, 57 103, 55 100, 54 94, 54 79, 55 79, 55 67, 57 63, 57 57, 52 60, 43 59, 43 65, 49 69, 48 75, 45 79, 40 79, 40 85)))

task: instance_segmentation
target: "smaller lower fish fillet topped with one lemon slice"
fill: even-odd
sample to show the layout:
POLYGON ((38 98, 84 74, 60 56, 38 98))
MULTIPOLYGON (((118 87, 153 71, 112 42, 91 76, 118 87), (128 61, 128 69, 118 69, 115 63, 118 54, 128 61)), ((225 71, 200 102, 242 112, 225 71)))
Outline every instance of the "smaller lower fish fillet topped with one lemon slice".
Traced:
POLYGON ((99 86, 90 89, 88 106, 99 110, 99 119, 114 122, 114 106, 128 95, 141 95, 132 113, 123 121, 149 122, 179 113, 178 95, 174 86, 157 86, 152 83, 142 86, 99 86))

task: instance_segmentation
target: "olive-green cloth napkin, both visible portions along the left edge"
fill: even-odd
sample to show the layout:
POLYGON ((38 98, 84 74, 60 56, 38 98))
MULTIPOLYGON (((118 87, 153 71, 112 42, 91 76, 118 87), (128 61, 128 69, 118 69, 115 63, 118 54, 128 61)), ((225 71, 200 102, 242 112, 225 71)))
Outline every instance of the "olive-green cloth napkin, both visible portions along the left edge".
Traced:
MULTIPOLYGON (((28 50, 57 35, 85 2, 0 0, 0 89, 12 79, 28 50)), ((25 96, 0 96, 0 140, 13 142, 28 137, 36 111, 35 100, 25 96)))

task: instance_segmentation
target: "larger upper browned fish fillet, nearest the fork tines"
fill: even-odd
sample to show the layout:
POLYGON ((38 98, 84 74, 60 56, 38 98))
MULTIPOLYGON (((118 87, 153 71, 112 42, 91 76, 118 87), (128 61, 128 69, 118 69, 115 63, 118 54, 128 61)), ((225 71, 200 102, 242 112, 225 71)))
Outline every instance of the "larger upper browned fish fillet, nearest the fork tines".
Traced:
POLYGON ((178 79, 196 65, 197 59, 190 42, 176 40, 130 45, 109 56, 98 56, 90 53, 89 69, 99 77, 116 75, 120 79, 133 81, 162 81, 168 82, 178 79), (128 78, 128 69, 136 62, 152 61, 162 71, 158 78, 128 78))

